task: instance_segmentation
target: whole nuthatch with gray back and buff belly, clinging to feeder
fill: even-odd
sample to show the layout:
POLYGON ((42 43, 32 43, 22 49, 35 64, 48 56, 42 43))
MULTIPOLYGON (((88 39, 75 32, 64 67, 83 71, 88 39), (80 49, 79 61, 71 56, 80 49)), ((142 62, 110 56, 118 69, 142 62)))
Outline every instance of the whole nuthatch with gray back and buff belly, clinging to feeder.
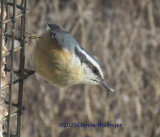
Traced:
POLYGON ((103 85, 115 90, 104 81, 102 69, 67 31, 55 24, 47 24, 34 49, 35 71, 56 87, 75 84, 103 85))

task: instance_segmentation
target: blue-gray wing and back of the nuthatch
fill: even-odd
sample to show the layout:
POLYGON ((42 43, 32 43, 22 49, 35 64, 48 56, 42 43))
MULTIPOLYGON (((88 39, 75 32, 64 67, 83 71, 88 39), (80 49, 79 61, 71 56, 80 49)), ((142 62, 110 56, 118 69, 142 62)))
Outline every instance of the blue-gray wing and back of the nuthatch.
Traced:
POLYGON ((47 26, 48 29, 51 30, 53 40, 60 48, 73 53, 75 47, 80 46, 80 44, 63 28, 59 27, 56 24, 47 23, 47 26))

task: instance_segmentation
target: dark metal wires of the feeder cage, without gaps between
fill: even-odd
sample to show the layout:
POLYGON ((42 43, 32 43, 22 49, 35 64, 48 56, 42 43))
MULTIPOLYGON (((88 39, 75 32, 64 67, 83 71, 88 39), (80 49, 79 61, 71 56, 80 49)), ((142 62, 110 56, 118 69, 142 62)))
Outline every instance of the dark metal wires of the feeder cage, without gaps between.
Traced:
MULTIPOLYGON (((9 91, 9 100, 7 103, 7 108, 8 108, 8 115, 6 116, 6 120, 7 120, 7 126, 6 126, 6 133, 4 133, 4 136, 7 137, 20 137, 20 133, 21 133, 21 116, 22 116, 22 111, 23 111, 23 107, 22 107, 22 99, 23 99, 23 82, 24 79, 26 79, 27 77, 24 74, 24 65, 25 65, 25 44, 26 44, 26 14, 27 14, 27 0, 21 0, 21 4, 17 5, 16 0, 0 0, 1 2, 1 22, 0 22, 0 32, 1 32, 1 36, 0 36, 0 71, 2 70, 2 58, 5 56, 10 56, 11 58, 11 64, 10 64, 10 68, 9 71, 7 73, 9 73, 10 75, 10 79, 8 80, 8 84, 4 85, 3 87, 1 86, 1 73, 0 73, 0 93, 2 90, 7 89, 9 91), (8 11, 9 9, 12 9, 12 17, 9 18, 8 16, 8 11), (16 15, 16 10, 20 11, 20 14, 16 15), (4 16, 4 12, 7 13, 6 19, 3 18, 4 16), (20 27, 21 27, 21 36, 16 39, 15 38, 15 24, 17 21, 19 21, 18 19, 20 19, 20 27), (12 24, 12 30, 11 30, 11 34, 8 34, 8 23, 12 24), (8 51, 7 53, 2 55, 2 45, 3 45, 3 40, 6 40, 7 37, 11 38, 11 50, 8 51), (20 42, 20 46, 15 48, 15 40, 18 40, 20 42), (19 60, 20 60, 20 64, 19 64, 19 70, 15 71, 13 70, 13 64, 14 64, 14 54, 16 54, 17 51, 20 51, 20 56, 19 56, 19 60), (18 72, 18 76, 16 80, 13 80, 13 74, 15 72, 18 72), (13 85, 14 84, 19 84, 18 85, 18 99, 17 99, 17 104, 12 103, 12 94, 14 93, 13 91, 13 85), (11 114, 11 108, 16 106, 17 111, 15 112, 15 114, 17 115, 17 127, 16 127, 16 134, 13 135, 11 133, 11 119, 13 117, 11 114)), ((7 43, 6 43, 7 44, 7 43)), ((5 45, 6 45, 5 44, 5 45)))

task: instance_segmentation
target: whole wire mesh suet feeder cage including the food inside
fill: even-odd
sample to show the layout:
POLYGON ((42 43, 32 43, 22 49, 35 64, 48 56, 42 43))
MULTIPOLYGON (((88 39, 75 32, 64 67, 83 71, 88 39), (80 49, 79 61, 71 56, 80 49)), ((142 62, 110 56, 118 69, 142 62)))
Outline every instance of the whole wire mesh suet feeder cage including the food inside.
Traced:
POLYGON ((29 76, 24 68, 27 0, 0 2, 0 136, 20 137, 21 116, 24 110, 23 82, 29 76), (14 90, 14 85, 17 86, 18 92, 14 90), (17 96, 15 103, 13 95, 17 96))

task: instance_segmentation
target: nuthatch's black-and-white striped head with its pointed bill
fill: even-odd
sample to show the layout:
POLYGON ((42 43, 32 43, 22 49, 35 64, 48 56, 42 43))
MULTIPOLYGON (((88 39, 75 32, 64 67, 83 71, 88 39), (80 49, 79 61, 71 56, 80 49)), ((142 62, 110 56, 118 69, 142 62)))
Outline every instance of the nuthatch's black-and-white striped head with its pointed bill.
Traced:
POLYGON ((76 58, 76 60, 74 60, 75 64, 79 64, 80 70, 82 70, 81 73, 84 75, 82 83, 102 85, 112 92, 116 91, 104 80, 103 71, 93 56, 91 56, 81 46, 75 47, 74 54, 74 58, 76 58))

